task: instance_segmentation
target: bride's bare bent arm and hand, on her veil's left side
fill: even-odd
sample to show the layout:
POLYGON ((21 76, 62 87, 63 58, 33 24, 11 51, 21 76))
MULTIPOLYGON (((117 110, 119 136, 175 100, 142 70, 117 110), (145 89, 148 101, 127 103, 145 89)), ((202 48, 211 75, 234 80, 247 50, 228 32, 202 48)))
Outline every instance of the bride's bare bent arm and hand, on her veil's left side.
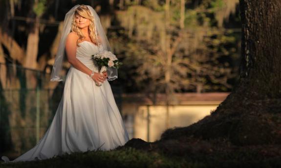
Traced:
MULTIPOLYGON (((76 58, 76 41, 78 38, 79 37, 73 32, 67 35, 65 42, 65 52, 67 60, 74 68, 87 75, 91 75, 92 71, 88 67, 86 67, 79 59, 76 58)), ((104 82, 103 77, 105 76, 99 73, 94 73, 94 76, 92 78, 96 81, 104 82)))

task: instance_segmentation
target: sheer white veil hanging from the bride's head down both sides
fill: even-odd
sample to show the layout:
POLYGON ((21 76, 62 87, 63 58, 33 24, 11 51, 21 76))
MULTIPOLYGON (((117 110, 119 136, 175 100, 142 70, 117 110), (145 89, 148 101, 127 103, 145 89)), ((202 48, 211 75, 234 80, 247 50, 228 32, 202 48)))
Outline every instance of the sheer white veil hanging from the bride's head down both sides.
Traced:
MULTIPOLYGON (((62 32, 61 41, 59 44, 58 52, 55 58, 55 63, 53 65, 52 74, 51 74, 51 81, 63 81, 61 77, 61 71, 62 71, 62 65, 65 57, 65 39, 71 31, 71 24, 73 15, 75 13, 76 8, 78 8, 80 5, 75 5, 73 8, 71 8, 66 14, 65 14, 65 21, 64 21, 64 28, 62 32)), ((111 51, 110 44, 108 42, 108 38, 104 32, 104 29, 102 27, 100 18, 96 11, 89 5, 86 5, 87 8, 91 11, 91 15, 94 17, 95 22, 95 33, 100 38, 100 42, 98 42, 99 47, 102 50, 111 51)), ((97 37, 96 36, 96 37, 97 37)), ((112 51, 111 51, 112 52, 112 51)), ((118 78, 118 72, 117 68, 113 67, 107 67, 107 73, 108 73, 108 80, 114 80, 118 78)))

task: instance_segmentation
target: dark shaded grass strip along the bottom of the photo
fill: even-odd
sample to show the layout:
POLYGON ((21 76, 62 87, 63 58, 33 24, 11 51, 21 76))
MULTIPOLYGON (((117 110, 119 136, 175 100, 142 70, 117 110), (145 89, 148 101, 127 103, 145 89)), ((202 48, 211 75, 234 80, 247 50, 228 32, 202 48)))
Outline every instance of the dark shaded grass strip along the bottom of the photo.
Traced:
MULTIPOLYGON (((206 145, 198 141, 187 148, 181 143, 175 144, 172 148, 186 149, 175 153, 173 149, 160 149, 159 144, 151 150, 122 147, 66 153, 42 161, 0 164, 0 168, 281 168, 280 149, 274 146, 220 148, 217 142, 206 145)), ((165 144, 161 148, 165 148, 165 144)))

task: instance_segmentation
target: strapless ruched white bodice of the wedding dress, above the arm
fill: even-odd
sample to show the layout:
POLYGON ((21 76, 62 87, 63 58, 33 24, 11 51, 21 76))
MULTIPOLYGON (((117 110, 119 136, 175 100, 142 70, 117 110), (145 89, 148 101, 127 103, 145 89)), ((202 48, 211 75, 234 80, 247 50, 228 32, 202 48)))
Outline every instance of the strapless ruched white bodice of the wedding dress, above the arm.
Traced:
POLYGON ((98 47, 94 43, 89 41, 82 41, 78 45, 79 47, 77 47, 76 50, 76 57, 89 69, 97 72, 97 64, 91 60, 91 56, 98 53, 101 47, 98 47))

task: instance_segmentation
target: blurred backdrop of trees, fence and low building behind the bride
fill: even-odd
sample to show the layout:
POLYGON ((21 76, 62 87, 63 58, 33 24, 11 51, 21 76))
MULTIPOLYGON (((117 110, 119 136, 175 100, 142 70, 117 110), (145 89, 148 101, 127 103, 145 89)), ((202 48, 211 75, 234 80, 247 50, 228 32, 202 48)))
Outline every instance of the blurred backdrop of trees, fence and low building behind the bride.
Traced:
POLYGON ((235 86, 238 2, 0 0, 0 156, 31 149, 52 122, 64 82, 50 73, 74 5, 96 10, 123 62, 110 85, 130 138, 153 142, 210 114, 235 86))

